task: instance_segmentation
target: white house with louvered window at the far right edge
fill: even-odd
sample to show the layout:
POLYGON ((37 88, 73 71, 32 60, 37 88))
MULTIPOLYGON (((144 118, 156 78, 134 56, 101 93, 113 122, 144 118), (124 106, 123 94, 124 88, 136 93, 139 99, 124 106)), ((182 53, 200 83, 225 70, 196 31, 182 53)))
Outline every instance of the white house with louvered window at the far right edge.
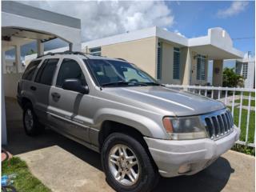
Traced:
POLYGON ((248 57, 236 60, 235 71, 244 78, 246 88, 255 88, 255 57, 248 57))

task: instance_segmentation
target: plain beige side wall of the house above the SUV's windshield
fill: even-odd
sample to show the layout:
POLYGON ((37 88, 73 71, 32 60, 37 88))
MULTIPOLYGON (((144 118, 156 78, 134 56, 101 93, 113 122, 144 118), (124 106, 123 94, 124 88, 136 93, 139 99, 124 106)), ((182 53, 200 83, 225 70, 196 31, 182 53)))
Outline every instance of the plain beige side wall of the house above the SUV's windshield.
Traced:
MULTIPOLYGON (((85 51, 85 50, 83 50, 85 51)), ((138 41, 122 42, 102 46, 102 56, 124 58, 156 78, 157 38, 143 38, 138 41)))

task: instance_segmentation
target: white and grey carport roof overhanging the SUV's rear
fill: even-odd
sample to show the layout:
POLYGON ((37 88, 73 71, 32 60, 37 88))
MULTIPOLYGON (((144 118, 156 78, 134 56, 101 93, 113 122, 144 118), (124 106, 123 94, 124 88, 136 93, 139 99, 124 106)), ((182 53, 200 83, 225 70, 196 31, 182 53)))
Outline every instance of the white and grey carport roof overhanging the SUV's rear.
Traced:
POLYGON ((81 20, 19 2, 2 2, 4 50, 11 44, 22 46, 34 40, 47 42, 54 38, 61 38, 74 50, 81 50, 81 20))

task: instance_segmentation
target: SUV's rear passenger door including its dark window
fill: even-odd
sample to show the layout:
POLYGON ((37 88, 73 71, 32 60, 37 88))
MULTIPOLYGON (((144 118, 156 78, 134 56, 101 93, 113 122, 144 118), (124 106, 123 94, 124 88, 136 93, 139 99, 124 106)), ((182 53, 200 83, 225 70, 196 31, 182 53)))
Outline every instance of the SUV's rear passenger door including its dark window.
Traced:
POLYGON ((47 108, 50 102, 50 87, 52 86, 58 61, 58 58, 45 59, 38 69, 34 82, 30 85, 30 90, 34 92, 35 113, 38 115, 38 118, 45 123, 48 120, 47 108))

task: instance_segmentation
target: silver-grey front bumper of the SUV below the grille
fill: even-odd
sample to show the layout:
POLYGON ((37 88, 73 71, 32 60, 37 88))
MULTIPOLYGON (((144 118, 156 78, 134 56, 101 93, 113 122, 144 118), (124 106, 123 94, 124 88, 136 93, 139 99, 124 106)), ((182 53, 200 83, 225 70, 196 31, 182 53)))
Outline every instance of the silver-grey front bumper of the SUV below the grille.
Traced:
POLYGON ((232 133, 216 141, 210 138, 197 140, 163 140, 144 137, 150 154, 158 166, 162 177, 196 174, 210 166, 221 154, 234 145, 239 138, 240 130, 234 126, 232 133), (186 173, 180 173, 182 167, 190 166, 186 173))

